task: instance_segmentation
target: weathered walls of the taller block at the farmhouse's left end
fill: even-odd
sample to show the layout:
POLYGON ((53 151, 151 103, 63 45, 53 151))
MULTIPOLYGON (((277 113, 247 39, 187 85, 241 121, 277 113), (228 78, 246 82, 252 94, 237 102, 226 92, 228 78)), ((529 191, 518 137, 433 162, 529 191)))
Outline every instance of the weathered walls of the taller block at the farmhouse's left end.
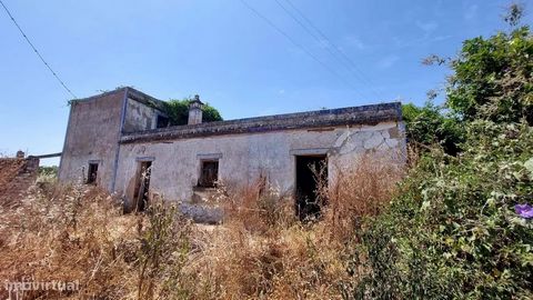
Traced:
POLYGON ((161 109, 161 100, 133 88, 71 101, 59 180, 83 180, 98 163, 97 184, 112 192, 122 132, 155 128, 161 109))

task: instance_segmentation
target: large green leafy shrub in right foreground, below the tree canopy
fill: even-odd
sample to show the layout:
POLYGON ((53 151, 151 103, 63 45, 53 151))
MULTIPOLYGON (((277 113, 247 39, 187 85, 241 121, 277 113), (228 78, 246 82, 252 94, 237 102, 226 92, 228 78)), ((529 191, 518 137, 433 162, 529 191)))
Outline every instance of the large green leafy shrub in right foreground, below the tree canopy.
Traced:
POLYGON ((466 131, 465 152, 426 153, 366 223, 352 261, 366 270, 359 298, 533 297, 533 223, 513 210, 533 199, 533 129, 475 121, 466 131))

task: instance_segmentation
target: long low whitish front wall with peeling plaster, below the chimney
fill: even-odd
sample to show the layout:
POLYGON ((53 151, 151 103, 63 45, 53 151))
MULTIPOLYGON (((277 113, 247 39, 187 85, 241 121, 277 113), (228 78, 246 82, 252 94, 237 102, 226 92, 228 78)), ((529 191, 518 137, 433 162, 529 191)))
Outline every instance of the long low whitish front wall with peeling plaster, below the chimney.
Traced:
POLYGON ((121 144, 115 190, 131 199, 139 160, 153 159, 150 190, 170 200, 189 201, 202 158, 221 156, 219 178, 229 184, 249 184, 263 174, 281 192, 292 193, 294 154, 324 151, 330 173, 353 163, 362 153, 380 152, 402 159, 402 123, 283 130, 121 144))

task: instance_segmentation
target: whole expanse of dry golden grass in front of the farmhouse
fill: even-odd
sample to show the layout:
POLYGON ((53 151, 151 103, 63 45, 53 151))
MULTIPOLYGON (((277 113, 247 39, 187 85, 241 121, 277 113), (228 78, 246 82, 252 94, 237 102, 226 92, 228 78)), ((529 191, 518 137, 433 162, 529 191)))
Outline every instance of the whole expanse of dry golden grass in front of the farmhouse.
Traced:
POLYGON ((358 222, 380 212, 401 176, 362 158, 321 186, 328 206, 310 223, 264 182, 220 192, 222 226, 193 226, 162 201, 123 216, 99 190, 36 190, 0 211, 0 280, 80 282, 79 292, 24 299, 341 299, 358 222))

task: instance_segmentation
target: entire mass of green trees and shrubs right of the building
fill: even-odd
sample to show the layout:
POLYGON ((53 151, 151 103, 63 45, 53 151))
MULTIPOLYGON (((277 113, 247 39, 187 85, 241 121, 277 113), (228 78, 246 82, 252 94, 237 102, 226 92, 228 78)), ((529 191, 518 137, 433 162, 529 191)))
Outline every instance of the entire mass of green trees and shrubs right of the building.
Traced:
MULTIPOLYGON (((514 8, 511 26, 522 14, 514 8)), ((408 137, 429 151, 386 211, 363 222, 346 294, 533 299, 533 220, 514 211, 533 201, 532 56, 527 27, 467 40, 450 62, 446 106, 456 118, 403 108, 408 137), (443 141, 457 132, 461 151, 450 156, 443 141)))

